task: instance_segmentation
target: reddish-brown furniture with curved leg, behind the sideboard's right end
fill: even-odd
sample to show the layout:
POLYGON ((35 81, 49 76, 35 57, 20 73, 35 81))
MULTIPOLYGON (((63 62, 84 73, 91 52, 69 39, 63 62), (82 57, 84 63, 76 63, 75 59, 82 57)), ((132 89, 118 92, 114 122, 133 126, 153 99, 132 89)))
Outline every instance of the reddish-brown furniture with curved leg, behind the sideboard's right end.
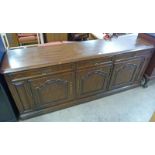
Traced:
MULTIPOLYGON (((148 42, 155 45, 155 37, 152 37, 149 34, 144 34, 144 33, 139 34, 139 37, 144 38, 148 42)), ((145 82, 143 84, 144 88, 146 88, 148 86, 148 82, 150 80, 155 79, 155 52, 154 52, 154 54, 149 62, 149 65, 145 71, 144 79, 145 79, 145 82)))

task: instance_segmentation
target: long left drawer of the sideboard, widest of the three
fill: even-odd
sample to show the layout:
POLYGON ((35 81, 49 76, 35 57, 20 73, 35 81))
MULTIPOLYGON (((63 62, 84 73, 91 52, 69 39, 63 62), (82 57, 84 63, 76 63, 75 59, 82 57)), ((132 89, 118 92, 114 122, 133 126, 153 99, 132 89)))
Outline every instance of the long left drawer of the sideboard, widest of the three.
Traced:
POLYGON ((72 70, 74 70, 74 64, 69 63, 69 64, 63 64, 63 65, 38 68, 38 69, 31 69, 31 70, 22 71, 22 72, 10 73, 9 77, 13 81, 17 81, 17 80, 29 79, 33 77, 45 76, 50 74, 72 71, 72 70))

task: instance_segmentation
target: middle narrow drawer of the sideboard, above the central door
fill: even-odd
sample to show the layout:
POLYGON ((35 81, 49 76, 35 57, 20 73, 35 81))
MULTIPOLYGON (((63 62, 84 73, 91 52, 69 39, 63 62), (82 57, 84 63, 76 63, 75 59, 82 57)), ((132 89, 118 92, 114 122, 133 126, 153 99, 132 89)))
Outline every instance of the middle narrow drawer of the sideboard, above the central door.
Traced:
POLYGON ((77 62, 77 69, 95 67, 112 62, 112 57, 96 58, 77 62))

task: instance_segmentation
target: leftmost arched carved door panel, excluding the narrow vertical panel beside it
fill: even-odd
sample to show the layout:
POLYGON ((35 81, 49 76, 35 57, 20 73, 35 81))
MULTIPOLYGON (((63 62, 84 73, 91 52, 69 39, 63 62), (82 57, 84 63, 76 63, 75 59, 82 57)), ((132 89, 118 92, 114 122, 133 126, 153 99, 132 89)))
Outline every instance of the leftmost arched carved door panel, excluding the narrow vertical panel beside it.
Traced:
POLYGON ((53 106, 74 97, 74 74, 61 73, 29 80, 36 107, 53 106))

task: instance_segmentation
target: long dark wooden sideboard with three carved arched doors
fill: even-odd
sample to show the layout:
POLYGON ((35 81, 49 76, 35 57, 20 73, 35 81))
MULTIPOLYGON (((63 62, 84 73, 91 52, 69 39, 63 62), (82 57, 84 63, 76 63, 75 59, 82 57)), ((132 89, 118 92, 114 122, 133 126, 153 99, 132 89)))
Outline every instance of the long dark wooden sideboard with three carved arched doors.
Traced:
POLYGON ((1 73, 24 119, 139 86, 153 50, 134 35, 15 49, 1 73))

